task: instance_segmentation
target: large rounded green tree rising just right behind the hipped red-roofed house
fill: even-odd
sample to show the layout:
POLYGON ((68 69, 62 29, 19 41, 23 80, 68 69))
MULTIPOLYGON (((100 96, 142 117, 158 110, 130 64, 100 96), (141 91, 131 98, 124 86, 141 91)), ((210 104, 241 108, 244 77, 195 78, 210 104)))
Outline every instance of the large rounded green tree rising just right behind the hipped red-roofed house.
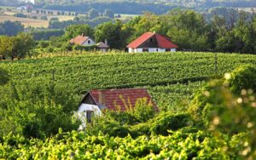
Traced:
POLYGON ((192 10, 173 10, 164 15, 169 28, 167 35, 182 49, 207 50, 208 30, 201 14, 192 10))

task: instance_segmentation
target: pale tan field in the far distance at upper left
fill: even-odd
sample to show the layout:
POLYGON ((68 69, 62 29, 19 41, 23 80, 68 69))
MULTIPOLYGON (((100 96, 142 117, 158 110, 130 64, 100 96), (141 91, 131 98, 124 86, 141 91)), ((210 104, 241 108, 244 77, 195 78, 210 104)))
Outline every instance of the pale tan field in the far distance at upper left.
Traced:
POLYGON ((48 25, 49 25, 49 20, 36 20, 36 19, 14 17, 14 16, 10 16, 10 15, 0 15, 0 22, 3 22, 5 20, 20 21, 21 24, 24 25, 25 27, 28 27, 28 26, 48 27, 48 25))

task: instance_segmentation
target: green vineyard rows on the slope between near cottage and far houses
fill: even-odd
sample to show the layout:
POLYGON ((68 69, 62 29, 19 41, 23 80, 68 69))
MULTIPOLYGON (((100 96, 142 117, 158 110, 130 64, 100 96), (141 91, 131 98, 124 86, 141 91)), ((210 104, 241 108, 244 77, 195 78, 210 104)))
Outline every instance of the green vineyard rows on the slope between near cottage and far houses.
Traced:
MULTIPOLYGON (((218 76, 247 63, 256 64, 256 56, 218 54, 218 76)), ((202 80, 215 76, 212 53, 90 54, 0 62, 0 67, 9 70, 16 83, 52 82, 55 71, 55 83, 76 89, 78 94, 89 89, 146 86, 154 100, 169 109, 177 101, 191 99, 202 80), (185 84, 189 81, 194 83, 185 84)))

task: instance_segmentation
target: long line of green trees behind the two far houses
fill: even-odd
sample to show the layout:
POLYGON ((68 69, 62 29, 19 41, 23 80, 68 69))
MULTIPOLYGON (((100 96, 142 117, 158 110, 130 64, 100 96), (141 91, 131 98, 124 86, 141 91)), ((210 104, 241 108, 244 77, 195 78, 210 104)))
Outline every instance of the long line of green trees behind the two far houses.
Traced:
POLYGON ((219 14, 219 10, 214 9, 206 16, 193 10, 180 9, 161 15, 146 12, 127 23, 115 20, 96 28, 88 25, 69 26, 65 38, 60 38, 67 41, 84 33, 94 37, 96 42, 108 39, 112 49, 125 49, 128 43, 144 32, 156 31, 170 37, 182 50, 255 54, 255 14, 232 9, 219 14))

